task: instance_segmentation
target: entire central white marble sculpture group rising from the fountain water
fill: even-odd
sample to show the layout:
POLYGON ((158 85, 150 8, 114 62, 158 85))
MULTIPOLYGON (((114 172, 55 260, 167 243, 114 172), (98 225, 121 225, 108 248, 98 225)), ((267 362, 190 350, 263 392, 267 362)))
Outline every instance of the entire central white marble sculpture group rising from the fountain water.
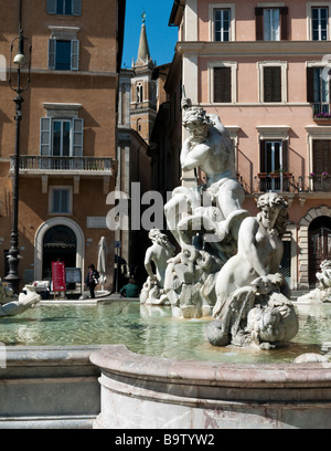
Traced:
MULTIPOLYGON (((259 213, 250 217, 243 209, 235 150, 218 116, 185 98, 183 109, 188 138, 181 167, 184 172, 194 170, 196 181, 199 170, 205 185, 173 190, 164 214, 180 251, 174 254, 169 244, 147 251, 149 279, 141 303, 166 300, 172 316, 213 317, 205 333, 214 346, 281 346, 298 332, 289 287, 279 273, 287 202, 266 193, 258 199, 259 213)), ((160 231, 151 231, 151 239, 153 233, 160 231)))

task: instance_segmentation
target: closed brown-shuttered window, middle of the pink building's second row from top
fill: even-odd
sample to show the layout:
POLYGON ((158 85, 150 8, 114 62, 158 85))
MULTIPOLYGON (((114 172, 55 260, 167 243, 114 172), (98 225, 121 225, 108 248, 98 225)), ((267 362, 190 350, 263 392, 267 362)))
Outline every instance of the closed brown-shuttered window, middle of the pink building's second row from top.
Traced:
POLYGON ((258 63, 259 70, 259 102, 287 102, 287 62, 258 63))

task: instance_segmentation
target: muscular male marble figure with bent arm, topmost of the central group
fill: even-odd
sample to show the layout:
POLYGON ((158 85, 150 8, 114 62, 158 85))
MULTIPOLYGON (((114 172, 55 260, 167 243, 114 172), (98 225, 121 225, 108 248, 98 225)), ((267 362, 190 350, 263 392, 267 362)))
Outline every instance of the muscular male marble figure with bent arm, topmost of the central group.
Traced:
POLYGON ((168 228, 181 249, 192 249, 196 231, 202 232, 203 243, 225 262, 236 252, 238 227, 248 214, 242 208, 245 193, 235 177, 234 147, 220 117, 207 115, 203 108, 186 107, 183 126, 189 137, 181 151, 182 170, 199 168, 206 183, 174 189, 164 208, 168 228), (186 213, 184 218, 182 213, 186 213), (225 240, 226 245, 222 245, 225 240))

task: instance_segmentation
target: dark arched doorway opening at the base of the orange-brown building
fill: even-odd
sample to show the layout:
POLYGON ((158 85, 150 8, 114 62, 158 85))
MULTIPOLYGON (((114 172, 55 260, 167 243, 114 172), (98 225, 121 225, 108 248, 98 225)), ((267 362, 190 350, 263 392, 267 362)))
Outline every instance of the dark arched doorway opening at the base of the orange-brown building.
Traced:
POLYGON ((65 268, 76 266, 77 239, 67 226, 54 226, 44 234, 43 280, 52 276, 52 262, 61 260, 65 268))

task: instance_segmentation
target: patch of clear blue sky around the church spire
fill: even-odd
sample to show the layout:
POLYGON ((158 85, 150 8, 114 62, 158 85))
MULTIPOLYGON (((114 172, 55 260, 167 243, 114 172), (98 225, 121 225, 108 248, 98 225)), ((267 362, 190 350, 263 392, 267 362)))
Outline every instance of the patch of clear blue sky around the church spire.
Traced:
POLYGON ((178 28, 168 27, 172 6, 173 0, 127 0, 122 67, 137 60, 143 11, 151 59, 158 65, 171 63, 178 41, 178 28))

